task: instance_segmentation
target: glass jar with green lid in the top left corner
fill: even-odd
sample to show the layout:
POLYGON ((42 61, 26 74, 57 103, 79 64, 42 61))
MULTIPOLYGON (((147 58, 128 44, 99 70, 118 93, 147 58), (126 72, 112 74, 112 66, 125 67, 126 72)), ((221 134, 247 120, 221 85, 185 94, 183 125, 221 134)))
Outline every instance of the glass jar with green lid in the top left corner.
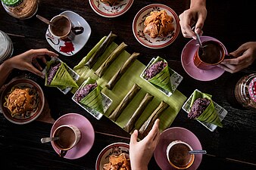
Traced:
POLYGON ((2 5, 12 17, 28 19, 36 14, 39 0, 1 0, 2 5))

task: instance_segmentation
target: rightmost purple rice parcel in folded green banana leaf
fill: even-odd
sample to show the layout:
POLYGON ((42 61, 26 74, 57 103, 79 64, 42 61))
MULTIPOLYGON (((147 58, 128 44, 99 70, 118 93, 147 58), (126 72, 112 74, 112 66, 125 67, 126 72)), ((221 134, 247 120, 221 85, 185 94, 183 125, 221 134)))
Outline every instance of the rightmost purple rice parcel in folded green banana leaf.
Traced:
POLYGON ((193 93, 188 118, 198 119, 202 122, 208 122, 221 128, 223 127, 216 113, 214 103, 211 100, 211 95, 201 93, 200 91, 194 91, 193 93))

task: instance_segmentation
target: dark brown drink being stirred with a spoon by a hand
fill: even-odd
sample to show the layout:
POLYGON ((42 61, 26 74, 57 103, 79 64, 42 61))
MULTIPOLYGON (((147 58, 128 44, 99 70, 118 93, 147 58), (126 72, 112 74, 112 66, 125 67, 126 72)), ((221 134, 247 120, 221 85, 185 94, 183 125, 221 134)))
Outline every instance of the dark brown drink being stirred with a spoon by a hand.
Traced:
POLYGON ((223 58, 223 50, 217 42, 208 41, 202 43, 203 48, 199 48, 198 55, 204 63, 219 63, 223 58))

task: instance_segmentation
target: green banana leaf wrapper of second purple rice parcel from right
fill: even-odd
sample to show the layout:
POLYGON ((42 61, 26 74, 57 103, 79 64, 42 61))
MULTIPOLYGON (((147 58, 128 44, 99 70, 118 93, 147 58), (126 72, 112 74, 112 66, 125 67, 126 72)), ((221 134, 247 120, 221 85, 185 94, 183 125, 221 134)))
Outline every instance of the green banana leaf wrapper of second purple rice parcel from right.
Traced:
MULTIPOLYGON (((161 60, 164 61, 164 63, 167 63, 166 60, 162 59, 161 57, 157 57, 155 61, 151 64, 151 66, 161 60)), ((150 66, 148 66, 148 68, 150 68, 150 66)), ((153 85, 157 85, 158 87, 163 88, 164 90, 173 92, 170 83, 170 70, 168 63, 167 66, 165 66, 160 73, 158 73, 151 79, 148 79, 148 82, 151 82, 153 85)))

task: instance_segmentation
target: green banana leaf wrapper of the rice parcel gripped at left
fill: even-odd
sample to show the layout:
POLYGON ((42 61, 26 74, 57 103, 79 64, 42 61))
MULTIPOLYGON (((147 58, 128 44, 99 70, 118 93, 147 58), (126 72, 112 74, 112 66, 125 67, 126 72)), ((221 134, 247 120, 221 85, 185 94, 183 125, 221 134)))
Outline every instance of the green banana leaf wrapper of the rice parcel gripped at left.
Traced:
POLYGON ((46 75, 45 75, 45 86, 49 87, 57 87, 57 88, 78 88, 76 82, 73 80, 73 77, 70 76, 70 73, 67 71, 67 64, 61 62, 61 66, 59 66, 57 73, 55 73, 52 82, 48 84, 48 71, 50 70, 51 66, 55 64, 55 61, 50 60, 46 63, 46 75))

